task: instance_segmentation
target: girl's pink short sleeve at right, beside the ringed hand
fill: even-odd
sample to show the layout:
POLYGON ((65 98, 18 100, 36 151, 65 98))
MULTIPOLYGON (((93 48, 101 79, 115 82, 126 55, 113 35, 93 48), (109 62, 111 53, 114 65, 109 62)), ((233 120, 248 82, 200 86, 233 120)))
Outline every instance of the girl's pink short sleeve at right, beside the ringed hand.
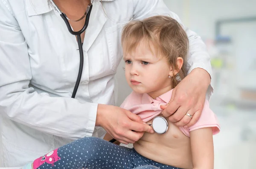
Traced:
POLYGON ((204 103, 204 109, 202 111, 202 114, 193 126, 189 127, 188 129, 185 129, 184 127, 179 127, 180 130, 188 137, 190 137, 189 132, 192 132, 193 130, 205 128, 205 127, 212 127, 212 134, 215 135, 218 132, 220 132, 220 126, 218 123, 218 119, 216 115, 212 112, 212 110, 209 108, 209 101, 206 100, 204 103))

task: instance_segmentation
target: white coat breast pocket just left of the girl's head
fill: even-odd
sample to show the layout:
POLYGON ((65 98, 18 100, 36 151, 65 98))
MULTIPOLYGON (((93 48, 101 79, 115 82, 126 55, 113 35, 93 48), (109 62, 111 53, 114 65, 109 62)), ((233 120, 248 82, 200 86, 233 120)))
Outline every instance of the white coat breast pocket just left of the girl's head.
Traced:
POLYGON ((116 71, 122 59, 121 33, 123 26, 123 23, 119 23, 105 28, 108 57, 111 60, 111 70, 113 71, 116 71))

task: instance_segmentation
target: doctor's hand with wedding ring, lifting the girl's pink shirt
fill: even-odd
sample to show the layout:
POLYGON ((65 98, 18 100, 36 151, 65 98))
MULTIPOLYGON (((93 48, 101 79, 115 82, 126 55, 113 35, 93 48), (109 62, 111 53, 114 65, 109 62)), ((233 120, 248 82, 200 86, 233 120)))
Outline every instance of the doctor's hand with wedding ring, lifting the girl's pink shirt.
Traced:
POLYGON ((210 81, 209 73, 206 70, 201 68, 193 69, 174 88, 169 103, 161 106, 161 109, 163 109, 162 114, 165 117, 169 117, 169 120, 177 126, 186 128, 194 125, 204 108, 210 81))

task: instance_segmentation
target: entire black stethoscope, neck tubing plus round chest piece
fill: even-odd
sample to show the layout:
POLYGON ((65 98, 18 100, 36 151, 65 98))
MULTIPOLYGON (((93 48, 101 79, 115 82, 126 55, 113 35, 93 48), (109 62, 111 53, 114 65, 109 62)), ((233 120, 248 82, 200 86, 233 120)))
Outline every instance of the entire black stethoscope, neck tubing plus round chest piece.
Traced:
MULTIPOLYGON (((68 20, 70 20, 66 14, 64 14, 59 8, 58 6, 55 5, 55 3, 52 0, 49 0, 50 4, 52 5, 52 7, 55 9, 55 11, 57 11, 60 15, 61 18, 64 20, 65 24, 67 25, 67 29, 70 32, 70 34, 73 34, 77 37, 77 42, 78 42, 78 47, 79 47, 79 54, 80 54, 80 63, 79 63, 79 72, 78 72, 78 76, 76 79, 76 85, 74 87, 73 93, 72 93, 72 98, 75 98, 76 96, 76 92, 77 89, 79 87, 79 83, 81 81, 81 76, 82 76, 82 72, 83 72, 83 63, 84 63, 84 52, 83 52, 83 45, 82 45, 82 41, 81 41, 81 34, 86 30, 88 23, 89 23, 89 18, 90 18, 90 13, 92 11, 93 8, 93 0, 90 1, 90 3, 88 4, 86 11, 84 13, 84 15, 79 19, 79 20, 71 20, 74 22, 80 21, 82 19, 85 18, 85 22, 84 22, 84 26, 83 28, 81 28, 80 31, 73 31, 73 29, 71 28, 70 23, 68 22, 68 20)), ((162 117, 162 116, 156 116, 153 118, 152 120, 152 124, 149 124, 152 126, 153 130, 158 133, 158 134, 164 134, 167 130, 168 130, 168 121, 162 117)), ((115 142, 116 139, 112 139, 110 140, 111 143, 115 142)))

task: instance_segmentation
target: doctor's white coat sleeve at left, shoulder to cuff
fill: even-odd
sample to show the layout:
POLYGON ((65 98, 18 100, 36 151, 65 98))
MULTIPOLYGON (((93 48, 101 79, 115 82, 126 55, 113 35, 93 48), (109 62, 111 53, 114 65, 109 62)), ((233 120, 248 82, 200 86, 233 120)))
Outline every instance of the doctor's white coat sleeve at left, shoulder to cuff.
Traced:
POLYGON ((63 138, 92 136, 98 104, 37 93, 26 39, 0 0, 0 115, 36 130, 63 138))

